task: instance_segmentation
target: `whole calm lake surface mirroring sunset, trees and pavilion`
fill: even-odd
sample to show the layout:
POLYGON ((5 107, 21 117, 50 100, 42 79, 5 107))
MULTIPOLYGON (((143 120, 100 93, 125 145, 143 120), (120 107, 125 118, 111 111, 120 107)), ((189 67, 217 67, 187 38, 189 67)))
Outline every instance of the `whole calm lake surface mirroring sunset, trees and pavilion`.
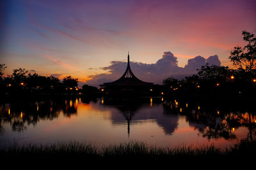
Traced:
POLYGON ((83 141, 102 146, 137 140, 157 146, 213 143, 223 148, 255 139, 256 110, 205 103, 161 97, 5 103, 0 106, 0 145, 83 141))

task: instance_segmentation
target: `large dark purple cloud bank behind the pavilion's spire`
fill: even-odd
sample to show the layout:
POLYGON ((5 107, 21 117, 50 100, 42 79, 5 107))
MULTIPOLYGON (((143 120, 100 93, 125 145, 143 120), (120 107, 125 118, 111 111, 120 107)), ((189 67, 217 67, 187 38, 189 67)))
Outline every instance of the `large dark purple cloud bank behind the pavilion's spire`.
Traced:
MULTIPOLYGON (((177 57, 171 52, 164 52, 161 59, 157 60, 156 64, 145 64, 142 62, 130 62, 132 72, 141 80, 152 83, 162 83, 164 78, 174 76, 175 78, 184 78, 196 73, 205 64, 214 64, 220 66, 221 62, 218 55, 210 56, 208 59, 197 56, 188 60, 185 67, 179 67, 177 57)), ((114 81, 124 73, 127 62, 111 61, 110 66, 102 67, 101 69, 109 70, 108 74, 97 74, 90 76, 92 80, 87 83, 89 85, 99 86, 102 83, 114 81)))

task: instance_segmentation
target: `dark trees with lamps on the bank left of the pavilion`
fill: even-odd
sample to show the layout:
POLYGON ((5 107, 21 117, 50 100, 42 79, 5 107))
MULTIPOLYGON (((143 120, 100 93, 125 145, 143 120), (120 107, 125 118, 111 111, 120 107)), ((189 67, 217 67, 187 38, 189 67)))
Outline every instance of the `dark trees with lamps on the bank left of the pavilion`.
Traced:
POLYGON ((20 95, 40 94, 92 94, 97 93, 97 87, 83 85, 78 86, 78 78, 66 76, 60 80, 55 76, 42 76, 37 73, 28 73, 24 68, 13 69, 13 73, 3 76, 5 64, 0 64, 0 93, 1 96, 13 97, 20 95))

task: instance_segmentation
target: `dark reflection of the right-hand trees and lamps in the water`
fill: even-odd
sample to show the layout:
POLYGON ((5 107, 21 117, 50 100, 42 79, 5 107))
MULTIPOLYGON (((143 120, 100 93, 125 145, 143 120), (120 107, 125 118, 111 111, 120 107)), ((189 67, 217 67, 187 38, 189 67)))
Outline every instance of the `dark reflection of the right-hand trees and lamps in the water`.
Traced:
POLYGON ((186 107, 178 107, 178 101, 176 100, 163 104, 164 109, 170 110, 170 113, 179 112, 179 115, 184 115, 189 126, 198 129, 204 138, 235 139, 237 136, 234 132, 239 127, 248 128, 247 136, 251 140, 256 135, 255 112, 243 110, 250 109, 248 107, 239 107, 239 110, 232 111, 237 109, 234 108, 234 105, 224 105, 220 106, 223 109, 223 111, 220 111, 216 110, 216 106, 209 106, 207 104, 204 108, 202 107, 203 109, 197 104, 191 103, 190 105, 191 107, 188 107, 188 103, 186 103, 186 107))

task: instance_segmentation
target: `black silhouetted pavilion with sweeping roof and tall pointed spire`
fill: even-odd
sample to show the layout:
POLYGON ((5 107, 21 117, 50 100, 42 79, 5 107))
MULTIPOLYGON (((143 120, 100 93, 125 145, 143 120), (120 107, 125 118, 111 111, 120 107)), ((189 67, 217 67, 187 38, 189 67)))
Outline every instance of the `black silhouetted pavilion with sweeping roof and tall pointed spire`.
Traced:
POLYGON ((127 58, 125 73, 116 81, 100 85, 102 92, 104 94, 118 96, 147 96, 154 83, 148 83, 138 79, 132 73, 129 53, 127 58))

